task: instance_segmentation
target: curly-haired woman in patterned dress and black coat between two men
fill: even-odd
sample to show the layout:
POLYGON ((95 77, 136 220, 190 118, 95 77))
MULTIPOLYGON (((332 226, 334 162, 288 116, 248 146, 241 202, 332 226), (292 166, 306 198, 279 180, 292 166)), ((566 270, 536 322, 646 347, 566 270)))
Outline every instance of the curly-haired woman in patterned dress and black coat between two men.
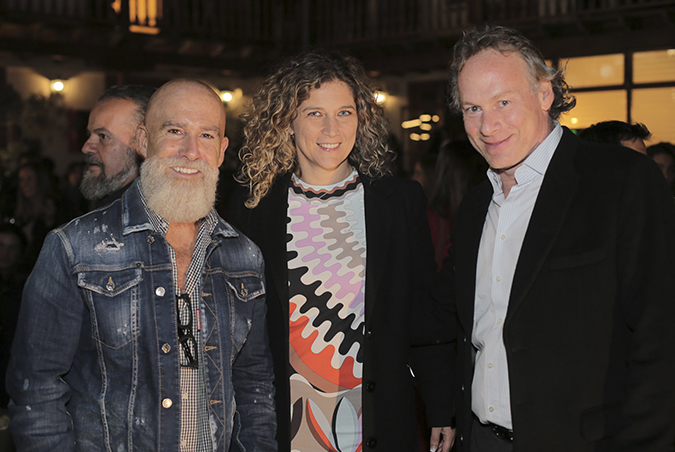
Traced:
POLYGON ((229 219, 266 262, 279 450, 416 450, 415 384, 432 446, 449 450, 451 338, 429 298, 424 195, 391 176, 363 67, 290 59, 243 120, 246 190, 229 219))

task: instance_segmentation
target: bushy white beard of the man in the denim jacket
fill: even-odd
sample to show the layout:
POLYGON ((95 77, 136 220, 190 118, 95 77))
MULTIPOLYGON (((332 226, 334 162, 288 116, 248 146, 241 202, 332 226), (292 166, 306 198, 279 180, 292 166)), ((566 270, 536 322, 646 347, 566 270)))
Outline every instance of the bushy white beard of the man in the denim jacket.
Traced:
POLYGON ((179 157, 153 156, 141 165, 140 184, 148 207, 169 223, 194 223, 211 211, 216 202, 218 169, 206 162, 179 157), (174 177, 171 167, 194 168, 198 180, 174 177))

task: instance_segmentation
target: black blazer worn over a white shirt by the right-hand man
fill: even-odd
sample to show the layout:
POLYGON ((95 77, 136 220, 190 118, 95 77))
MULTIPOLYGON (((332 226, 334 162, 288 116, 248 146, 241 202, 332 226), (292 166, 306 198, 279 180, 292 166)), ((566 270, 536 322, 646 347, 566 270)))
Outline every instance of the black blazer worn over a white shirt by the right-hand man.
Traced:
MULTIPOLYGON (((469 447, 478 247, 492 187, 453 231, 458 441, 469 447)), ((675 207, 651 159, 565 129, 504 323, 517 452, 666 451, 675 442, 675 207)), ((451 273, 445 273, 446 291, 451 273)))

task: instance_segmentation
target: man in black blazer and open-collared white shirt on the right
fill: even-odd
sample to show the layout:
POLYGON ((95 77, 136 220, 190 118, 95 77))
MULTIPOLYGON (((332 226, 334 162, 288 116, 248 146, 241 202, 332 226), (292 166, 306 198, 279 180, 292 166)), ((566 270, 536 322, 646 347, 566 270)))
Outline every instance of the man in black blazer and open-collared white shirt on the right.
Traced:
POLYGON ((515 30, 465 33, 450 88, 490 165, 441 287, 460 450, 672 451, 675 207, 658 169, 561 127, 563 75, 515 30))

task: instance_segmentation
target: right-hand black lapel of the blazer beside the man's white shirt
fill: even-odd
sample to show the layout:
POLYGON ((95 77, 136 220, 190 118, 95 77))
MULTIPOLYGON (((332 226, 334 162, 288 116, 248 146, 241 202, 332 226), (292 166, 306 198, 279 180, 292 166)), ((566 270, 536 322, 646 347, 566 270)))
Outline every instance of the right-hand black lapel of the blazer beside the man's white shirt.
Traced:
POLYGON ((577 188, 574 169, 578 138, 564 129, 562 140, 548 166, 518 257, 509 298, 509 316, 525 299, 560 232, 577 188))

